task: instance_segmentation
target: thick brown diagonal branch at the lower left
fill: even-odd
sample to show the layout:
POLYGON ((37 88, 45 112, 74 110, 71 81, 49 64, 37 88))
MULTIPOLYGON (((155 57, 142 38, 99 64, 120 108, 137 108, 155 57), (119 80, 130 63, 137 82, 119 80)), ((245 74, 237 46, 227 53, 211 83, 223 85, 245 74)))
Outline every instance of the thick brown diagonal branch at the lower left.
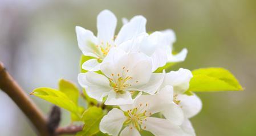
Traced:
POLYGON ((15 82, 9 73, 7 73, 3 63, 0 62, 0 88, 7 95, 13 99, 15 104, 21 111, 29 118, 32 125, 34 125, 37 133, 42 136, 48 136, 47 120, 42 112, 31 101, 29 96, 22 90, 22 88, 15 82))

